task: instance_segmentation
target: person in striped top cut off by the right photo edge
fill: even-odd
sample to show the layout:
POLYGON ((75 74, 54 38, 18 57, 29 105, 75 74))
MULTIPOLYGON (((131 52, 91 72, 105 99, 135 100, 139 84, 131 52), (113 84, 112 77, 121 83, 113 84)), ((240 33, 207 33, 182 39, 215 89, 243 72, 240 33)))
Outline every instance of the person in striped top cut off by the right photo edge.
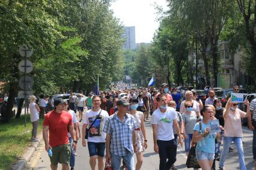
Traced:
POLYGON ((254 132, 252 138, 252 153, 254 154, 254 167, 256 169, 256 99, 251 101, 250 114, 248 115, 248 126, 254 132))

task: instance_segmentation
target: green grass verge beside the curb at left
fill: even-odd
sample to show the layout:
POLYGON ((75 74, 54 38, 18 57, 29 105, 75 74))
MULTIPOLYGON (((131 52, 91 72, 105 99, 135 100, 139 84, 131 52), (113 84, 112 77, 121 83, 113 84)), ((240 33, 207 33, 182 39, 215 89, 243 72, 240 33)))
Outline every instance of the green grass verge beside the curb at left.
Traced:
MULTIPOLYGON (((31 145, 32 124, 29 115, 26 116, 26 128, 24 126, 25 116, 20 119, 10 120, 8 123, 0 123, 0 169, 10 169, 21 157, 26 147, 31 145)), ((40 120, 38 133, 41 132, 42 122, 40 120)))

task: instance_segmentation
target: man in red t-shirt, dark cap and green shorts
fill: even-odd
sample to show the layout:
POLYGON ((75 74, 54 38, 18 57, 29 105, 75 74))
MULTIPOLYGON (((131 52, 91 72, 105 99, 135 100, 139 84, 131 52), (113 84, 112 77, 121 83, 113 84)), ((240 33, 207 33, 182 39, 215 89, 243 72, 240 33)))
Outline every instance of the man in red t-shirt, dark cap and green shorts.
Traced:
POLYGON ((70 143, 67 131, 69 129, 73 138, 72 147, 76 150, 76 132, 72 122, 72 115, 64 111, 64 101, 57 98, 54 101, 55 110, 47 113, 43 121, 43 139, 45 150, 52 149, 50 157, 50 168, 57 169, 58 163, 62 164, 62 169, 69 169, 70 143), (48 140, 49 131, 49 140, 48 140))

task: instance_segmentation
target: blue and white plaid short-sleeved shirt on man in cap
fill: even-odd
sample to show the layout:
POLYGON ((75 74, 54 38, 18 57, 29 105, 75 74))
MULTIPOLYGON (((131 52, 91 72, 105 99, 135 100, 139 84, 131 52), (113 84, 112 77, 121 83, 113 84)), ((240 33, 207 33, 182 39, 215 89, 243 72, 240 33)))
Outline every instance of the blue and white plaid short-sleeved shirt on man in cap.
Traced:
POLYGON ((103 132, 111 135, 110 152, 116 156, 125 156, 127 150, 133 153, 132 132, 137 129, 133 116, 126 113, 124 122, 118 118, 117 114, 112 114, 106 120, 103 132))

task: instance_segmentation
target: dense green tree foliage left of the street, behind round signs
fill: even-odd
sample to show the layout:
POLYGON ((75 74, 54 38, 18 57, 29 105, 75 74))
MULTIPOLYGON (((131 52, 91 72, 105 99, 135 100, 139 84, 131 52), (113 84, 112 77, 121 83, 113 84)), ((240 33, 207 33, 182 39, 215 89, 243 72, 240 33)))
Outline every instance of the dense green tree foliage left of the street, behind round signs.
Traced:
POLYGON ((101 88, 119 80, 123 26, 109 9, 110 2, 1 1, 0 80, 17 83, 22 75, 17 69, 22 44, 34 48, 29 59, 37 95, 92 90, 97 75, 101 88))

